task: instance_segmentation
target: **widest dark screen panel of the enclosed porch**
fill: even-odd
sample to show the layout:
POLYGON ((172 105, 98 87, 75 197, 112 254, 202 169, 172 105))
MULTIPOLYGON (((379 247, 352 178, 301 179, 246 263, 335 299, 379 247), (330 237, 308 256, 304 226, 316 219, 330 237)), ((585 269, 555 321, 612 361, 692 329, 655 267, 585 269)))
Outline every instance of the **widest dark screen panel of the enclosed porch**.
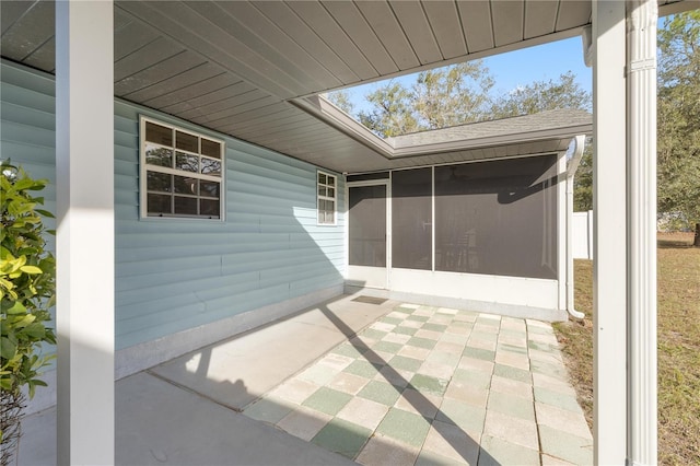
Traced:
POLYGON ((557 278, 557 156, 435 167, 435 270, 557 278))

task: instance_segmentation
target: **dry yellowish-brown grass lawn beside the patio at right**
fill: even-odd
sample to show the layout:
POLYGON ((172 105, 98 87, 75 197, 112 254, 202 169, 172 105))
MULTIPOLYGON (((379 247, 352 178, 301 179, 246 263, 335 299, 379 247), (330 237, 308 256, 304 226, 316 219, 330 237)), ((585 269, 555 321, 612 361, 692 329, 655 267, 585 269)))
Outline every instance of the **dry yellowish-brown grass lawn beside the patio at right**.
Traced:
MULTIPOLYGON (((658 235, 658 461, 700 465, 700 248, 692 233, 658 235)), ((593 263, 575 261, 583 322, 555 324, 593 426, 593 263)))

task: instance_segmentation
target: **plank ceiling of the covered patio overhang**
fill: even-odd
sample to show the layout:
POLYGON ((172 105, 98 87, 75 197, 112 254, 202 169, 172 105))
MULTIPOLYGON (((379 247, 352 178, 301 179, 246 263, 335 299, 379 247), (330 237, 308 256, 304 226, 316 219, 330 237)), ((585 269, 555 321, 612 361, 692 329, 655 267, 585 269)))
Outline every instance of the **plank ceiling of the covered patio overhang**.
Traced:
MULTIPOLYGON (((54 2, 0 8, 1 55, 54 72, 54 2)), ((116 1, 114 22, 118 97, 359 172, 431 158, 387 160, 293 100, 575 36, 591 2, 116 1)))

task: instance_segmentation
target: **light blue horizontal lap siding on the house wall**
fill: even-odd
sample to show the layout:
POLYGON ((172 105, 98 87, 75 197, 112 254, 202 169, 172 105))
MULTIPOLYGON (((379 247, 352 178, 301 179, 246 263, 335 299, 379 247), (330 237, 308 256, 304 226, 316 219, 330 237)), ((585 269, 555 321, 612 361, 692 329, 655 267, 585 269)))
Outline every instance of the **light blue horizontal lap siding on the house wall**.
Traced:
MULTIPOLYGON (((2 156, 54 184, 52 78, 3 62, 1 98, 2 156)), ((342 284, 345 218, 316 224, 315 166, 127 102, 114 125, 117 349, 342 284), (140 115, 225 141, 224 221, 139 218, 140 115)))

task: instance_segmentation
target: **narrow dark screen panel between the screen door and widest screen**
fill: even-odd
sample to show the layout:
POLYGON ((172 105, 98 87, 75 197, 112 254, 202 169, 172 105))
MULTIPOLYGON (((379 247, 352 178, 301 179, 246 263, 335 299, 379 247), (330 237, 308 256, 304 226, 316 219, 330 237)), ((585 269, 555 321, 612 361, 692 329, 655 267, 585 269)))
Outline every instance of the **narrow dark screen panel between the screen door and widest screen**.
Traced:
POLYGON ((432 270, 432 168, 392 173, 392 267, 432 270))

